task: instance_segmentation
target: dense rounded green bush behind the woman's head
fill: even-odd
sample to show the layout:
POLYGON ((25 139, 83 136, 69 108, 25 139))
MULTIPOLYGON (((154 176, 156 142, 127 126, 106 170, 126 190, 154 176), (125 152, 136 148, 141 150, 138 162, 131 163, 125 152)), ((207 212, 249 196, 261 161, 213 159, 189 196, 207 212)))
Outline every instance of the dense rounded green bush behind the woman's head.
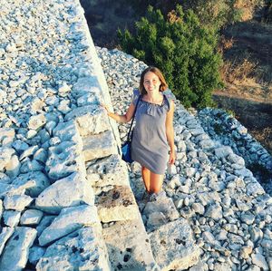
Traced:
POLYGON ((168 19, 149 6, 147 16, 135 26, 134 35, 118 30, 121 49, 159 67, 184 106, 214 105, 211 93, 221 86, 222 63, 217 32, 202 26, 191 10, 184 14, 180 5, 168 19))

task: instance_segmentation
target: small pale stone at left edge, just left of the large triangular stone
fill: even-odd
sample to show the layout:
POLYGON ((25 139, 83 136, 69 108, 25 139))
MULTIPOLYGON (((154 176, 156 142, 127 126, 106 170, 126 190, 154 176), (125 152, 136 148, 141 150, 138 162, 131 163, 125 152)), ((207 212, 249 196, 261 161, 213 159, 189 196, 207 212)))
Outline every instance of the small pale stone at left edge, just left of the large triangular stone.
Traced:
POLYGON ((33 198, 27 195, 7 195, 4 199, 4 207, 5 209, 23 211, 24 208, 32 202, 32 200, 33 198))

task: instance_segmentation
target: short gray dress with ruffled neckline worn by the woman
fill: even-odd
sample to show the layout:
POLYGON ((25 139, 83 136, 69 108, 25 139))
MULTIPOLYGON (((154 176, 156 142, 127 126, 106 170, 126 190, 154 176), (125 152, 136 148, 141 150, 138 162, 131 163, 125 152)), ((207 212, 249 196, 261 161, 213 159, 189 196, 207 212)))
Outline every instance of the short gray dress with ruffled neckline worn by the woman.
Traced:
MULTIPOLYGON (((134 90, 134 105, 139 96, 139 90, 134 90)), ((168 162, 169 145, 165 121, 169 110, 170 98, 163 94, 161 105, 140 100, 135 114, 131 158, 156 174, 164 174, 168 162)))

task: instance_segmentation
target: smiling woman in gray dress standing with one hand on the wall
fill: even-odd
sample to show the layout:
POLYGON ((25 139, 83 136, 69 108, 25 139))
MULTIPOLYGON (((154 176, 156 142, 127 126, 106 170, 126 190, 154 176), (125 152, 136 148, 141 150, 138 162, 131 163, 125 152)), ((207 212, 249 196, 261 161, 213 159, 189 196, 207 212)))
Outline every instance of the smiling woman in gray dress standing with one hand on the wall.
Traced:
POLYGON ((131 105, 124 115, 110 112, 102 105, 113 120, 129 122, 140 99, 135 114, 131 158, 141 164, 142 179, 149 194, 160 192, 167 161, 173 164, 176 160, 174 102, 163 94, 167 87, 160 70, 148 67, 141 73, 139 90, 134 90, 131 105))

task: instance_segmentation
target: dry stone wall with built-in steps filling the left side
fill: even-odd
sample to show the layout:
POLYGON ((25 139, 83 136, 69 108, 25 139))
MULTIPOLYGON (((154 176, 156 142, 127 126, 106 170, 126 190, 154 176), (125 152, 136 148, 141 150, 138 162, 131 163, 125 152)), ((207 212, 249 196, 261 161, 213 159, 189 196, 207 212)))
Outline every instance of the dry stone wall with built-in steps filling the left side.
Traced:
POLYGON ((0 270, 158 270, 82 6, 1 5, 0 270))

